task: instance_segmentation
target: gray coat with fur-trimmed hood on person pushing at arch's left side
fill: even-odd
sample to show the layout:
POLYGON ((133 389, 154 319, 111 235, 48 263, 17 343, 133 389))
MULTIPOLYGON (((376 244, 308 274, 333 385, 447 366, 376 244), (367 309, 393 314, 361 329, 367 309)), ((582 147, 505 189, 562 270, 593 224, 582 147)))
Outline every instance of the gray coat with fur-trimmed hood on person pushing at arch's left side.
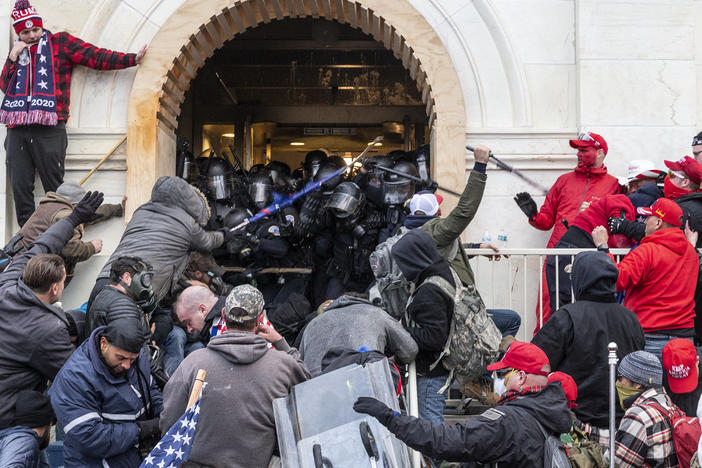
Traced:
POLYGON ((224 242, 221 232, 203 229, 209 217, 204 195, 179 177, 159 177, 151 201, 134 212, 98 279, 110 276, 117 258, 139 257, 153 267, 151 283, 160 301, 175 290, 191 251, 207 253, 224 242))

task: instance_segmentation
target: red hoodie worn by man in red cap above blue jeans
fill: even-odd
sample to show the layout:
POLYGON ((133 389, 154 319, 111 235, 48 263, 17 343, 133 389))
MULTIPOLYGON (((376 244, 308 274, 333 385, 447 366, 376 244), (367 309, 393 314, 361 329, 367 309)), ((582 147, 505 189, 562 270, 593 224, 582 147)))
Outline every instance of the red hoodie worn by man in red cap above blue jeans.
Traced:
POLYGON ((626 291, 624 307, 634 311, 645 333, 695 326, 699 260, 680 229, 644 237, 617 267, 617 290, 626 291))

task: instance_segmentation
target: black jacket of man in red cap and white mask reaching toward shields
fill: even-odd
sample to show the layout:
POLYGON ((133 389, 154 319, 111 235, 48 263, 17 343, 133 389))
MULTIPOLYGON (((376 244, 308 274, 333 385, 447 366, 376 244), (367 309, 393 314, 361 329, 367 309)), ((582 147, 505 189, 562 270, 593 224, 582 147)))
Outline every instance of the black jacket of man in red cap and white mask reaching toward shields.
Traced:
POLYGON ((560 384, 527 394, 489 409, 465 424, 435 424, 405 415, 395 415, 387 427, 415 450, 432 458, 472 462, 469 467, 497 463, 499 467, 544 466, 547 433, 570 430, 572 420, 560 384))

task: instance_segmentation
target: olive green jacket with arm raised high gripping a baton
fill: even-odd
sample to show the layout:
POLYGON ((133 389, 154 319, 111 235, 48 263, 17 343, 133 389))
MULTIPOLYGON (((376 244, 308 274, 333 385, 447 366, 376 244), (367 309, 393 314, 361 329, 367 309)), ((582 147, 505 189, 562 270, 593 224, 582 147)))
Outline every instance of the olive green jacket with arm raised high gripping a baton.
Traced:
POLYGON ((486 180, 487 175, 476 170, 471 171, 456 208, 445 218, 430 219, 420 228, 434 239, 443 258, 447 260, 453 258, 450 260, 451 266, 466 286, 474 285, 475 277, 468 263, 468 255, 463 248, 459 248, 460 237, 478 211, 486 180))

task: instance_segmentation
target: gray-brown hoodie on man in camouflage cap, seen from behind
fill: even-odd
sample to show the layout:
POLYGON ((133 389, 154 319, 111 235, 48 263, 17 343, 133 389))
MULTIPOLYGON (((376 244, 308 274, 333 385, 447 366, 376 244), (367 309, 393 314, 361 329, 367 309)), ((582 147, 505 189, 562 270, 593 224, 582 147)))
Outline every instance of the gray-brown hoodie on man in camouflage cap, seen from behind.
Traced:
POLYGON ((163 392, 161 432, 185 412, 198 369, 207 371, 189 462, 214 468, 265 467, 276 442, 273 400, 309 379, 285 340, 269 349, 260 336, 229 331, 189 354, 163 392))

